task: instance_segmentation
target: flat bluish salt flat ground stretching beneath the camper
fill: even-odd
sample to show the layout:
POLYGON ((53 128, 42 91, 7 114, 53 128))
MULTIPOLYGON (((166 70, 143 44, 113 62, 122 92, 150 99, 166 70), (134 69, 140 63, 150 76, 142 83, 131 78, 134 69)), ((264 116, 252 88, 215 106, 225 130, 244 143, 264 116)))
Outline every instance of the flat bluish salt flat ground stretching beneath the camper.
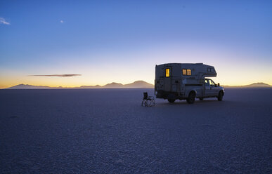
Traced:
POLYGON ((0 90, 0 173, 272 173, 272 89, 141 107, 144 91, 0 90))

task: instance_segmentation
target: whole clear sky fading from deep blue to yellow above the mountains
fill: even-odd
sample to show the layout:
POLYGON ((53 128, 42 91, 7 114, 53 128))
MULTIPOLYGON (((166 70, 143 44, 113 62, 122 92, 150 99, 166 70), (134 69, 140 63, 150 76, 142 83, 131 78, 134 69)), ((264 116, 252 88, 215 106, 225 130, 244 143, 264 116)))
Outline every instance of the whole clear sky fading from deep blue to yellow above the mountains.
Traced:
POLYGON ((272 1, 0 1, 0 88, 154 83, 167 62, 272 85, 272 1), (52 74, 82 75, 30 76, 52 74))

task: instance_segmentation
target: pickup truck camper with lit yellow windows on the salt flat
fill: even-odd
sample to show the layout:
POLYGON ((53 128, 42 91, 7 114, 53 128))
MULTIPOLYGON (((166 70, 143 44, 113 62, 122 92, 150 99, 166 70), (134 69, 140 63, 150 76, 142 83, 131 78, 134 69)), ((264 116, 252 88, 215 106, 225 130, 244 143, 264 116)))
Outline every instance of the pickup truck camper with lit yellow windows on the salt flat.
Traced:
POLYGON ((155 95, 156 98, 187 100, 195 102, 195 98, 217 98, 221 101, 224 88, 208 77, 215 77, 214 67, 203 63, 167 63, 156 65, 155 95))

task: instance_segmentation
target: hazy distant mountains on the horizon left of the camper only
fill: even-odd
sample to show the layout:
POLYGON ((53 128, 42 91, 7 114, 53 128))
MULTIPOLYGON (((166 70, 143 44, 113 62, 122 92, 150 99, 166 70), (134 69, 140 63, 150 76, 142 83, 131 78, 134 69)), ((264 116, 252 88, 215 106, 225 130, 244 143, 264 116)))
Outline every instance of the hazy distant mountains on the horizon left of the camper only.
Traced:
MULTIPOLYGON (((27 84, 19 84, 16 86, 12 86, 6 89, 53 89, 53 88, 70 88, 70 87, 50 87, 50 86, 33 86, 27 84)), ((129 84, 122 84, 122 83, 108 83, 104 86, 79 86, 79 87, 71 87, 71 88, 154 88, 153 84, 147 83, 145 81, 134 81, 133 83, 129 84)))

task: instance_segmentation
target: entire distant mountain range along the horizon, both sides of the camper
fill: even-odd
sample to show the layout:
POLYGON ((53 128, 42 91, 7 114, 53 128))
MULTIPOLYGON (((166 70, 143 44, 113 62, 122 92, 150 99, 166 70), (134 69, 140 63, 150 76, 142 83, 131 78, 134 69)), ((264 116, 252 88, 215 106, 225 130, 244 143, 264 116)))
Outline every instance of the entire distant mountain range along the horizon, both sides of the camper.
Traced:
MULTIPOLYGON (((252 83, 250 85, 245 86, 223 86, 224 88, 272 88, 271 85, 266 83, 252 83)), ((56 88, 70 88, 70 87, 50 87, 50 86, 33 86, 33 85, 25 85, 20 84, 16 86, 12 86, 6 89, 56 89, 56 88)), ((79 86, 79 87, 71 87, 71 88, 154 88, 153 84, 147 83, 145 81, 134 81, 134 83, 122 84, 122 83, 108 83, 104 86, 79 86)))

